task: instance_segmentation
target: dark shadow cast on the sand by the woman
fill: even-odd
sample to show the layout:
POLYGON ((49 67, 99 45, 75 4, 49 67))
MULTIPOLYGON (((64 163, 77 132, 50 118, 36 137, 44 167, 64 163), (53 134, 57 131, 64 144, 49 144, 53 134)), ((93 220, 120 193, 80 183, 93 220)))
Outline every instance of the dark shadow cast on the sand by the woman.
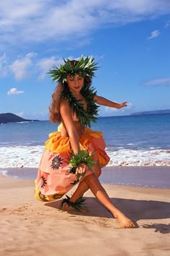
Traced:
MULTIPOLYGON (((133 221, 147 220, 152 221, 161 220, 164 218, 170 218, 170 202, 160 202, 153 200, 131 200, 122 198, 110 198, 112 203, 125 213, 128 218, 133 221)), ((102 218, 112 218, 112 214, 104 208, 104 206, 94 197, 86 197, 86 208, 87 212, 79 213, 72 211, 73 215, 79 216, 97 216, 102 218)), ((46 206, 52 208, 61 208, 61 200, 55 202, 47 202, 46 206)), ((160 232, 162 234, 170 233, 170 223, 169 225, 163 223, 153 223, 151 225, 143 225, 145 229, 155 229, 155 232, 160 232)))

